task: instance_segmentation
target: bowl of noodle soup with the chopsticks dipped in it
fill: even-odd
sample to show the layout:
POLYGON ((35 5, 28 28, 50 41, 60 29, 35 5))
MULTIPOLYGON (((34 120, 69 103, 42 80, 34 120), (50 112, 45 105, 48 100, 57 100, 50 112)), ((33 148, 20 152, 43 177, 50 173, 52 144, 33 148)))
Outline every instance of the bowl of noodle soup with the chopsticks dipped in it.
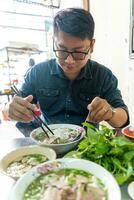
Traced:
POLYGON ((74 124, 52 124, 49 128, 54 133, 52 135, 46 130, 49 138, 40 127, 33 130, 30 137, 38 145, 54 149, 57 154, 65 154, 73 150, 86 134, 83 127, 74 124))

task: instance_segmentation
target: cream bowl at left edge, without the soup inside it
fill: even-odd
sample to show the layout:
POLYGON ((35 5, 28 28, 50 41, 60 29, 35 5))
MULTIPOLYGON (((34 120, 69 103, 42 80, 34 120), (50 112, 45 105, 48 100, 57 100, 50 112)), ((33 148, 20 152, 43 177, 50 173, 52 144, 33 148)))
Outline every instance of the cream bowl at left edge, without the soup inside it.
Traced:
MULTIPOLYGON (((47 157, 47 161, 56 159, 56 153, 53 149, 40 147, 37 145, 25 146, 25 147, 17 148, 15 150, 11 151, 10 153, 6 154, 0 160, 0 170, 7 176, 10 176, 11 178, 17 180, 18 178, 23 176, 24 173, 19 174, 19 175, 18 175, 18 173, 14 174, 14 175, 9 174, 7 172, 7 168, 9 167, 9 165, 12 162, 16 161, 17 159, 19 159, 20 157, 27 156, 27 155, 35 155, 35 154, 39 154, 39 155, 43 155, 43 156, 47 157)), ((41 164, 41 163, 39 163, 39 164, 41 164)), ((30 166, 30 164, 29 164, 29 166, 30 166)), ((30 169, 28 169, 27 171, 29 171, 30 169)))

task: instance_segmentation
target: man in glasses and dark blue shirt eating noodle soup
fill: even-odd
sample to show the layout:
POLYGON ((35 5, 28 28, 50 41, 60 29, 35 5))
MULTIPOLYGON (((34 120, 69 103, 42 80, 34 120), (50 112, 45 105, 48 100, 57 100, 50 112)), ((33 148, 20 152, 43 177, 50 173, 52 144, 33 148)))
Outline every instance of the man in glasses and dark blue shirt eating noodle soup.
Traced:
POLYGON ((80 8, 59 11, 54 18, 56 59, 30 68, 21 93, 6 108, 10 119, 32 121, 29 108, 39 104, 48 123, 81 124, 107 121, 113 127, 128 124, 128 109, 117 88, 117 78, 90 59, 95 40, 94 20, 80 8))

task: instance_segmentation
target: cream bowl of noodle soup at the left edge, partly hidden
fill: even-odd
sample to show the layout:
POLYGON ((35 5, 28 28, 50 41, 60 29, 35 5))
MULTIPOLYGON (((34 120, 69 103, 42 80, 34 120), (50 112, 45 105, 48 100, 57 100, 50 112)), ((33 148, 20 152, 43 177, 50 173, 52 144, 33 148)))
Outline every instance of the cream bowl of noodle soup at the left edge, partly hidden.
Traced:
POLYGON ((33 167, 54 159, 56 159, 56 153, 53 149, 37 145, 20 147, 0 160, 0 170, 17 180, 33 167))

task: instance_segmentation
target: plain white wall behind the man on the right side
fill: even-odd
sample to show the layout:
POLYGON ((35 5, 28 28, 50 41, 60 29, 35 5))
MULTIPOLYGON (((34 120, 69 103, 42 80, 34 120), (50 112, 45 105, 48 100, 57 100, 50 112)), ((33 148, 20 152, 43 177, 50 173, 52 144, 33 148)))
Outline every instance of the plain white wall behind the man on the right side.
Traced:
POLYGON ((134 124, 134 59, 129 58, 130 0, 90 0, 96 44, 92 58, 109 67, 134 124))

